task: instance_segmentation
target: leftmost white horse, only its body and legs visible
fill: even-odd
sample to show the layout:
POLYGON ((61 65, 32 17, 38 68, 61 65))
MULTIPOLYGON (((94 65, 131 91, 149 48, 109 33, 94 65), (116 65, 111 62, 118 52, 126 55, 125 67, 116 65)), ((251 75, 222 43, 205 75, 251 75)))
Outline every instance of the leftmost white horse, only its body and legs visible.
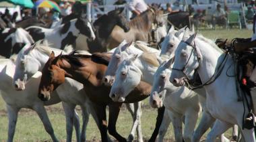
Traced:
POLYGON ((46 132, 51 135, 53 141, 58 141, 57 137, 55 137, 53 127, 46 110, 44 109, 44 105, 51 105, 60 102, 61 100, 59 99, 59 96, 57 94, 53 94, 54 98, 48 102, 42 102, 42 100, 37 97, 38 85, 40 82, 40 75, 38 74, 30 79, 30 82, 28 82, 28 87, 25 90, 22 92, 16 91, 13 87, 11 87, 14 70, 15 65, 11 60, 0 60, 0 92, 3 100, 5 100, 9 119, 7 141, 13 141, 18 112, 22 108, 36 111, 44 125, 46 132))

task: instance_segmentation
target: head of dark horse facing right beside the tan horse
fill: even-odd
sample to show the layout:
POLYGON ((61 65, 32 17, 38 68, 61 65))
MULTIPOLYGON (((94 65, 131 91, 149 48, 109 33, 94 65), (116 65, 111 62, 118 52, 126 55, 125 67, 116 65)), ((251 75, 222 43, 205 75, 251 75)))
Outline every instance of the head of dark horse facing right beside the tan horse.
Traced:
POLYGON ((115 22, 119 27, 121 27, 125 32, 130 30, 129 22, 125 19, 123 15, 123 9, 115 9, 113 11, 108 12, 108 17, 115 19, 115 22))

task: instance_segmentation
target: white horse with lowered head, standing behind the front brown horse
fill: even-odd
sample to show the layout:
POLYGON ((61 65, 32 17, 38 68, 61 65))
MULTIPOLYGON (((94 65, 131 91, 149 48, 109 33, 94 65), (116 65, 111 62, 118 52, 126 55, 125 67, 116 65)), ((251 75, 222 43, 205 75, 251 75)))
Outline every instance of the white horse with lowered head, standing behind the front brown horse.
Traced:
MULTIPOLYGON (((114 49, 115 50, 115 49, 114 49)), ((37 42, 34 46, 27 46, 20 53, 18 54, 18 58, 15 62, 16 68, 15 68, 15 75, 13 78, 13 85, 17 90, 24 90, 26 83, 30 80, 31 76, 36 74, 37 71, 41 71, 44 64, 49 59, 49 56, 51 52, 54 51, 56 54, 60 54, 63 52, 63 50, 57 50, 55 48, 49 48, 49 46, 46 46, 44 44, 40 44, 40 42, 37 42)), ((110 52, 113 52, 110 50, 110 52)), ((81 53, 81 51, 79 51, 81 53)), ((88 54, 88 53, 87 53, 88 54)), ((65 83, 61 84, 57 88, 57 92, 59 94, 59 97, 63 101, 63 108, 66 115, 66 121, 67 121, 67 141, 71 141, 72 136, 72 130, 73 130, 73 112, 75 111, 75 106, 80 105, 82 108, 82 114, 84 118, 84 124, 82 127, 82 137, 81 140, 85 140, 85 131, 86 131, 86 125, 88 123, 88 117, 89 113, 92 114, 94 118, 96 118, 94 115, 94 111, 90 109, 90 101, 87 98, 82 89, 83 84, 72 80, 71 78, 65 78, 65 83), (90 109, 88 112, 86 109, 90 109), (67 111, 66 111, 67 110, 67 111)), ((133 115, 133 118, 136 118, 133 120, 133 123, 137 124, 140 122, 137 122, 140 120, 140 105, 135 104, 134 106, 131 104, 126 104, 127 109, 129 112, 133 115)), ((76 117, 74 118, 76 119, 76 117)), ((96 119, 95 119, 96 120, 96 119)), ((98 123, 97 123, 98 124, 98 123)), ((135 128, 137 128, 137 125, 133 124, 133 129, 131 131, 131 135, 134 136, 135 128)), ((137 131, 141 129, 140 127, 137 128, 137 131)), ((138 137, 142 139, 141 133, 138 133, 138 137)), ((78 139, 79 140, 79 139, 78 139)))

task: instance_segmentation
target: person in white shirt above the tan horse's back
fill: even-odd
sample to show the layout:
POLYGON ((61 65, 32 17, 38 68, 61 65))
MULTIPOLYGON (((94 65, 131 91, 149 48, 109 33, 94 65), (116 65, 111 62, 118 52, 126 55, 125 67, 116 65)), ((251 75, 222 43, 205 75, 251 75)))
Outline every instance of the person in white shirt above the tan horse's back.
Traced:
POLYGON ((148 5, 143 0, 131 0, 128 3, 128 7, 133 13, 132 18, 140 15, 143 11, 148 9, 148 5))

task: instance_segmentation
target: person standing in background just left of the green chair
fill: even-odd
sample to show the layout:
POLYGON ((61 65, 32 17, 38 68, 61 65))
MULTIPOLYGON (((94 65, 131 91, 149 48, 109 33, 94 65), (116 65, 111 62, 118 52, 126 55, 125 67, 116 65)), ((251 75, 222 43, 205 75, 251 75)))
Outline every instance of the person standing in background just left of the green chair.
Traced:
POLYGON ((217 9, 214 15, 212 15, 212 25, 214 26, 214 29, 216 27, 216 23, 219 25, 223 25, 225 28, 228 24, 226 12, 224 11, 224 9, 221 8, 221 5, 219 3, 217 5, 217 9))

